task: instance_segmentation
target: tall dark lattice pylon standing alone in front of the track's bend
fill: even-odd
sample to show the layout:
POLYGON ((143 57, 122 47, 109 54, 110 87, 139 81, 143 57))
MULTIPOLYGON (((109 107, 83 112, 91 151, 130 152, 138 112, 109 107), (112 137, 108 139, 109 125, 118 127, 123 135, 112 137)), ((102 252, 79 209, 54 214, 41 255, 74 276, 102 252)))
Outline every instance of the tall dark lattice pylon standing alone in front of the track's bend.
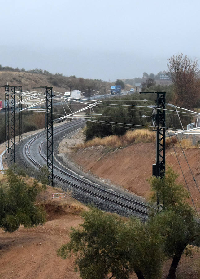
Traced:
POLYGON ((46 94, 46 145, 47 167, 49 171, 49 183, 54 186, 54 162, 53 162, 53 87, 45 87, 46 94))

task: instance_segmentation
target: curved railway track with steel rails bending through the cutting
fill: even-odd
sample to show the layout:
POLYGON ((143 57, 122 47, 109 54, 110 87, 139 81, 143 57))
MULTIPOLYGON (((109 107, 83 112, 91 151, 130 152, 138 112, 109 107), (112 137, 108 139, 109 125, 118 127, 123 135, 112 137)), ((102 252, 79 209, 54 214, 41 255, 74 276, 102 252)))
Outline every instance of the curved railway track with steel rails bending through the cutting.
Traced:
MULTIPOLYGON (((73 121, 62 126, 54 128, 54 135, 69 130, 70 128, 80 124, 81 121, 73 121)), ((25 156, 37 168, 41 168, 46 160, 46 155, 42 152, 46 143, 46 133, 35 136, 25 145, 25 156), (38 155, 39 154, 39 155, 38 155)), ((63 170, 62 166, 58 166, 58 162, 54 163, 54 179, 78 189, 83 194, 97 198, 98 200, 108 202, 114 206, 118 206, 128 211, 129 215, 137 214, 142 218, 148 217, 150 206, 142 202, 135 201, 119 193, 113 193, 109 189, 104 189, 101 185, 90 183, 85 179, 80 179, 69 171, 63 170)))

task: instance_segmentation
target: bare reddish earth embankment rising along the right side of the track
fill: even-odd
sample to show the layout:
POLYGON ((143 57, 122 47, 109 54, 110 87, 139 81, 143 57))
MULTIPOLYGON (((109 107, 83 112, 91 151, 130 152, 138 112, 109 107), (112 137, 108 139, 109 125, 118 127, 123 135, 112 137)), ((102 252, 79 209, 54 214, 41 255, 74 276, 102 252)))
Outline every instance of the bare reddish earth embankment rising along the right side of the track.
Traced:
MULTIPOLYGON (((69 140, 67 139, 68 142, 69 140)), ((103 146, 97 146, 79 149, 78 151, 70 151, 70 149, 67 149, 66 139, 63 139, 60 143, 60 153, 64 153, 66 157, 69 157, 84 172, 90 172, 107 183, 119 185, 129 192, 145 197, 146 199, 150 198, 150 185, 147 179, 152 175, 155 152, 155 144, 153 143, 132 144, 125 148, 113 150, 103 146)), ((185 149, 184 152, 197 184, 200 185, 200 149, 185 149)), ((198 211, 200 211, 200 188, 198 190, 194 183, 181 148, 176 148, 176 153, 189 185, 192 198, 198 211)), ((180 174, 178 182, 185 185, 185 180, 173 148, 167 148, 166 150, 166 163, 169 166, 173 166, 173 170, 180 174)))

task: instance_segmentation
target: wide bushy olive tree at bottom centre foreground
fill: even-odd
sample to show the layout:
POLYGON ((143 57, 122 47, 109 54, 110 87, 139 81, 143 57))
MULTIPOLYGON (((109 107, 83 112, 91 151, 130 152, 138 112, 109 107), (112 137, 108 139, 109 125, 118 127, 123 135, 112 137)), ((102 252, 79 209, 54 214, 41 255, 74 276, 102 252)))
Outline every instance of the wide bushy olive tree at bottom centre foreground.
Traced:
POLYGON ((163 237, 154 223, 122 219, 98 209, 83 213, 82 229, 72 228, 71 240, 58 250, 63 259, 76 255, 83 279, 139 279, 160 277, 163 237))

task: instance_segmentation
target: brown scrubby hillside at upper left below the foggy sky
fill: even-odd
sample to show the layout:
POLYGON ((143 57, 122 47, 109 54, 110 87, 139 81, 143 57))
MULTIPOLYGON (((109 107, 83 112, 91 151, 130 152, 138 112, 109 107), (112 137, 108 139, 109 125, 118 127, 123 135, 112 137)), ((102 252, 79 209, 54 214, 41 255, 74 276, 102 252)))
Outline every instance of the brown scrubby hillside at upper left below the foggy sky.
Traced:
MULTIPOLYGON (((22 86, 22 90, 32 90, 33 87, 49 86, 53 87, 54 91, 64 93, 70 90, 70 86, 73 89, 78 89, 83 92, 87 92, 88 86, 91 90, 101 91, 103 94, 103 87, 106 86, 110 89, 112 83, 104 82, 99 79, 84 79, 76 78, 75 76, 64 77, 62 74, 48 73, 28 73, 13 70, 0 70, 0 85, 5 84, 10 86, 22 86)), ((94 92, 95 93, 95 92, 94 92)), ((0 89, 0 100, 5 98, 5 89, 0 89)))

